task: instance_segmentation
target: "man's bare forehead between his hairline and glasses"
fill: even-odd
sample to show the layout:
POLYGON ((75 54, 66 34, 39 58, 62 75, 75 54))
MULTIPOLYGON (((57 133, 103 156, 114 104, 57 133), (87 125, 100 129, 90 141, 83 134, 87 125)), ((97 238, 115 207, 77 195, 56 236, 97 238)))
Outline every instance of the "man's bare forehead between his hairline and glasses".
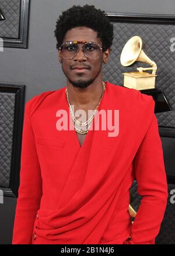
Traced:
POLYGON ((69 29, 65 34, 65 41, 95 41, 101 43, 101 39, 97 37, 97 32, 89 27, 74 27, 69 29))

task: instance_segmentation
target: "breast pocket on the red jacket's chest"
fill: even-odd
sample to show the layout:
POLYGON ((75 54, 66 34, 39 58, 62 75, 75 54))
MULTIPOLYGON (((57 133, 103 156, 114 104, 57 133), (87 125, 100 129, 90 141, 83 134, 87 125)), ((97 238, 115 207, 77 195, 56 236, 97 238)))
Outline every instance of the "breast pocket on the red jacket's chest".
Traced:
POLYGON ((46 137, 36 137, 36 143, 40 145, 46 145, 50 147, 64 148, 64 140, 46 138, 46 137))

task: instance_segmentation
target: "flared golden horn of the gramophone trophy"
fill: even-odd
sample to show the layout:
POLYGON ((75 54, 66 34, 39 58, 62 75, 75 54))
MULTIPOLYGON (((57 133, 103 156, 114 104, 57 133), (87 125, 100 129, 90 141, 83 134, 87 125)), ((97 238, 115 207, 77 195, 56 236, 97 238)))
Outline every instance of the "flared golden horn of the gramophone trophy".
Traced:
POLYGON ((156 74, 157 65, 154 61, 150 60, 150 58, 142 50, 142 39, 139 36, 133 36, 127 41, 120 56, 121 65, 125 67, 135 63, 135 61, 148 63, 152 66, 151 68, 136 68, 139 72, 152 70, 152 74, 156 74))

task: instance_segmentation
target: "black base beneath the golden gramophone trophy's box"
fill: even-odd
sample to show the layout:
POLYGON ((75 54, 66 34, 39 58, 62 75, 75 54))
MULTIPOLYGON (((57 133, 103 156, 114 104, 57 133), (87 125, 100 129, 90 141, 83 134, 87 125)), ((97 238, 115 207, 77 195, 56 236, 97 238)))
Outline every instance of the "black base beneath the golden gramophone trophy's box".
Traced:
POLYGON ((139 90, 142 94, 151 95, 155 101, 155 113, 172 110, 164 93, 156 88, 139 90))

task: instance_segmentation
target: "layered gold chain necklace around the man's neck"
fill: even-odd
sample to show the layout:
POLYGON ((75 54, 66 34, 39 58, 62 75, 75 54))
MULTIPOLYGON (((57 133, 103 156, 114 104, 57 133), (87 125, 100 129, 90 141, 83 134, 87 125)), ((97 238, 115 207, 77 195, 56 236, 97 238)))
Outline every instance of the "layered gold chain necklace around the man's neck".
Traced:
MULTIPOLYGON (((71 107, 71 103, 69 102, 69 98, 68 98, 68 89, 67 89, 67 88, 65 89, 65 93, 66 93, 66 95, 67 95, 67 101, 68 101, 68 104, 69 104, 69 110, 70 110, 70 112, 71 112, 72 120, 73 120, 76 124, 78 124, 79 126, 86 126, 87 124, 89 124, 90 122, 92 122, 92 120, 93 120, 93 118, 94 118, 94 116, 95 116, 95 114, 96 114, 96 112, 97 112, 97 108, 98 108, 98 106, 100 105, 101 99, 103 98, 104 90, 106 89, 106 84, 105 84, 103 81, 102 81, 102 84, 103 84, 103 92, 102 92, 102 94, 101 94, 100 101, 99 101, 99 103, 97 104, 96 109, 93 111, 93 115, 90 116, 89 119, 88 119, 86 122, 84 122, 84 123, 79 122, 79 121, 76 119, 76 117, 74 116, 74 113, 73 113, 72 107, 71 107)), ((78 128, 75 127, 75 124, 74 124, 74 128, 75 128, 76 132, 78 132, 78 133, 80 133, 80 134, 86 134, 86 133, 88 133, 88 130, 89 130, 90 126, 89 126, 88 129, 86 129, 86 130, 79 130, 78 128)))

